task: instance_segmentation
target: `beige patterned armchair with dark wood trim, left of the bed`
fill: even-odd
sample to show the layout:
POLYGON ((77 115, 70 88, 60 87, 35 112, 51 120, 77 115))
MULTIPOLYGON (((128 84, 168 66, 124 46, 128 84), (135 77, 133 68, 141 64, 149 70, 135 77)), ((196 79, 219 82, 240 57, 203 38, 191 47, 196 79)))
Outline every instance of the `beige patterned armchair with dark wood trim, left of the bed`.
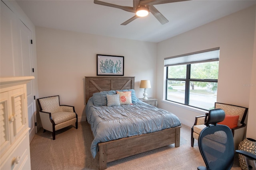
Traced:
POLYGON ((59 96, 51 96, 37 99, 40 107, 40 119, 44 132, 52 132, 52 139, 55 140, 55 131, 76 123, 78 119, 74 106, 60 105, 59 96))

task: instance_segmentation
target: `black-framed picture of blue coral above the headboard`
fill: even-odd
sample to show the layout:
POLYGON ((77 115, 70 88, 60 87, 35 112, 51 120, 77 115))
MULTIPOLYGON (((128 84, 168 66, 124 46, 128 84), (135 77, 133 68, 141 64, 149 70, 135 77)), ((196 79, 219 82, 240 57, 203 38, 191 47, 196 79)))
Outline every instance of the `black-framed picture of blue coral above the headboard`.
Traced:
POLYGON ((97 54, 97 76, 124 76, 124 56, 97 54))

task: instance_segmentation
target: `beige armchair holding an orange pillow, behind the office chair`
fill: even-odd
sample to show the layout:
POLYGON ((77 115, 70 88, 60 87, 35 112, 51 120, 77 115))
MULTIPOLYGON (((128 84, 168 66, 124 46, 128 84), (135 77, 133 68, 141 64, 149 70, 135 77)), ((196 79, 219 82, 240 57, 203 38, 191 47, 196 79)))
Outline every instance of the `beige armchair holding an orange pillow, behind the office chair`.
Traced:
MULTIPOLYGON (((234 138, 234 148, 235 150, 238 149, 238 145, 244 140, 246 133, 246 124, 244 123, 244 120, 248 108, 216 102, 215 109, 223 109, 226 115, 239 115, 237 127, 231 129, 234 138)), ((196 116, 195 123, 191 128, 191 147, 194 147, 194 139, 198 140, 200 132, 206 127, 206 125, 204 125, 205 116, 206 115, 196 116)))

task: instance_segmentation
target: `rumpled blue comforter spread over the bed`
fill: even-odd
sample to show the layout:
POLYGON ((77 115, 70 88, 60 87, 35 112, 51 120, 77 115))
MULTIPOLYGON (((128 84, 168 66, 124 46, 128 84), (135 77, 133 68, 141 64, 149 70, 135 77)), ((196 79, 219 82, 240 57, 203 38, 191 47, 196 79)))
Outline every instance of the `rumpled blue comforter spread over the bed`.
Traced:
POLYGON ((86 118, 94 135, 91 145, 93 158, 98 152, 98 143, 180 125, 176 115, 144 102, 112 107, 94 106, 93 97, 86 104, 86 118))

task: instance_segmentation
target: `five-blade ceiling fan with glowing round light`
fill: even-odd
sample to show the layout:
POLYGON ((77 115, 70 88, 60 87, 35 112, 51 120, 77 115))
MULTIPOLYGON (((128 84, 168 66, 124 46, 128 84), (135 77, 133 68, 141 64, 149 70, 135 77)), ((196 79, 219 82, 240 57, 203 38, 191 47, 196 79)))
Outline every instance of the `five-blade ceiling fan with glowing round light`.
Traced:
POLYGON ((121 10, 135 13, 135 16, 125 21, 124 23, 121 23, 121 25, 127 25, 128 23, 135 20, 136 18, 147 16, 149 12, 151 12, 161 24, 165 24, 169 21, 154 7, 154 5, 167 4, 172 2, 181 2, 181 1, 187 1, 187 0, 133 0, 133 7, 110 4, 110 3, 102 2, 99 0, 94 0, 94 4, 110 6, 113 8, 119 8, 121 10))

